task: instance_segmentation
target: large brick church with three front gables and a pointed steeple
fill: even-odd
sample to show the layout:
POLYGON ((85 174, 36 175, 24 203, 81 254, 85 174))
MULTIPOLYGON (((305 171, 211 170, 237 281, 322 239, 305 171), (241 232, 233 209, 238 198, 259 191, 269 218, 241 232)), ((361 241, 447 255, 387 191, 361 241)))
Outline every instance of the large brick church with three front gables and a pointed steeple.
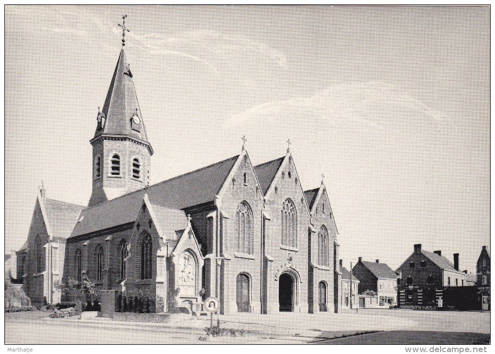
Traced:
POLYGON ((216 297, 220 313, 338 311, 339 245, 327 189, 304 191, 287 149, 241 153, 149 185, 148 140, 124 47, 97 117, 87 207, 36 200, 19 251, 35 304, 74 302, 53 282, 146 294, 153 311, 216 297), (24 257, 24 258, 23 258, 24 257))

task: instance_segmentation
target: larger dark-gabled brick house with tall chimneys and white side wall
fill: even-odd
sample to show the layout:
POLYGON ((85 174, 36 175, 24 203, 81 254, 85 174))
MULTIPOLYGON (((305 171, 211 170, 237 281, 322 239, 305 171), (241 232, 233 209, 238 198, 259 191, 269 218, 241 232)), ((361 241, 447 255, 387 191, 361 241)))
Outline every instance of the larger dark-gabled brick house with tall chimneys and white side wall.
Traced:
POLYGON ((414 252, 397 268, 401 274, 399 291, 405 294, 402 305, 434 306, 436 290, 447 286, 467 286, 467 274, 459 270, 459 254, 450 263, 441 251, 430 252, 414 245, 414 252))

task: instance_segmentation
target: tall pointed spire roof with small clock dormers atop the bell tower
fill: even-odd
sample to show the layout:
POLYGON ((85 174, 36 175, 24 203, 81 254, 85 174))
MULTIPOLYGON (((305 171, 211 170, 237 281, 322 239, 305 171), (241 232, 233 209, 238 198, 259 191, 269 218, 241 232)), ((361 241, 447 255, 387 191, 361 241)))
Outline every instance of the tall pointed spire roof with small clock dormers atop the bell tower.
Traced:
POLYGON ((105 118, 104 125, 98 125, 95 138, 102 134, 127 136, 150 146, 124 48, 120 51, 101 113, 105 118), (131 127, 131 119, 136 113, 141 120, 139 132, 131 127))

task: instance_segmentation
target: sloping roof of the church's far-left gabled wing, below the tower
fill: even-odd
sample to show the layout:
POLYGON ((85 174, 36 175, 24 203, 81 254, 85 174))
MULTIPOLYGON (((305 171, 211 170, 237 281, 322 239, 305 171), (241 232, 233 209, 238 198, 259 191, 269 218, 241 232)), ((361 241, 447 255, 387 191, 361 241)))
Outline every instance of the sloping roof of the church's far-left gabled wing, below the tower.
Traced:
POLYGON ((51 236, 70 237, 74 224, 84 207, 49 198, 45 198, 43 204, 47 213, 45 222, 49 225, 51 236))

